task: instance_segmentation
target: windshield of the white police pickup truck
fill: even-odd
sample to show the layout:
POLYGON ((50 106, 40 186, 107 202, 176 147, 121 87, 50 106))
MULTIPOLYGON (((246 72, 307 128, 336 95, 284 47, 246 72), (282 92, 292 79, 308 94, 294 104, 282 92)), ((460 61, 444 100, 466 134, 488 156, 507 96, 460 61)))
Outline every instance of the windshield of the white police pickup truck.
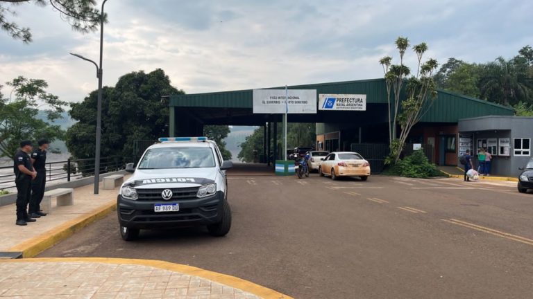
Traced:
POLYGON ((149 149, 139 169, 214 167, 210 147, 160 147, 149 149))

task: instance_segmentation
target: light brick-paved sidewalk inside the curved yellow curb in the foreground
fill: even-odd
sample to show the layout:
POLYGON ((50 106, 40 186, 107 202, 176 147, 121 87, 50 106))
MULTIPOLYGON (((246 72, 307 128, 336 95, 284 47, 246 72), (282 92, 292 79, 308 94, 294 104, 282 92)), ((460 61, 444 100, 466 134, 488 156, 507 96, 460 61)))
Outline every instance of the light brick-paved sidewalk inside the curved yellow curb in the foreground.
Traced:
POLYGON ((0 298, 260 298, 225 284, 160 267, 39 260, 1 261, 0 298))

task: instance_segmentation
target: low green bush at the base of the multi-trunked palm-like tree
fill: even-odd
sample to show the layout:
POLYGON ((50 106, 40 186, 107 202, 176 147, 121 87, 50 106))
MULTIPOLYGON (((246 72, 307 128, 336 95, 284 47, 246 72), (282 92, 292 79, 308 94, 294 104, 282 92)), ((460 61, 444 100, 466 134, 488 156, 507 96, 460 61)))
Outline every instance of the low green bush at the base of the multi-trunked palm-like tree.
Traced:
POLYGON ((422 150, 416 150, 391 167, 388 174, 425 179, 432 176, 443 176, 436 165, 430 163, 422 150))

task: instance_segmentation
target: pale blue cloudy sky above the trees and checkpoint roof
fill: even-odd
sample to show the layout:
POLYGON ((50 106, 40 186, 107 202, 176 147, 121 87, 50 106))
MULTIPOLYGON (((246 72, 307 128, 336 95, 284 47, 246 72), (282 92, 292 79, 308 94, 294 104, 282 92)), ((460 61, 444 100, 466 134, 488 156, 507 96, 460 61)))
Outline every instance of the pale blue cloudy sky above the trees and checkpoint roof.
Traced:
MULTIPOLYGON (((509 58, 533 46, 530 0, 108 0, 105 6, 103 83, 161 68, 187 93, 380 78, 378 60, 398 56, 393 42, 400 35, 427 42, 428 57, 441 64, 448 57, 509 58)), ((94 66, 69 52, 98 60, 98 32, 72 31, 50 6, 15 10, 10 19, 30 27, 34 42, 0 31, 0 82, 44 79, 70 102, 97 88, 94 66)))

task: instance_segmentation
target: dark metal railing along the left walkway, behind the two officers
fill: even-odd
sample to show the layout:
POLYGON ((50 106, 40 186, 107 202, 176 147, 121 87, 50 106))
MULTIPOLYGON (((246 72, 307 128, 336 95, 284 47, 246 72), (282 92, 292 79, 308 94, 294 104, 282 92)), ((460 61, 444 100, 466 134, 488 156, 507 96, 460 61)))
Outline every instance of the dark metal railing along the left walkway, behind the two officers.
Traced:
MULTIPOLYGON (((124 169, 124 157, 109 156, 100 158, 100 173, 112 172, 124 169)), ((0 170, 11 170, 10 174, 0 174, 0 190, 15 187, 15 174, 13 166, 3 166, 0 170)), ((71 181, 94 175, 94 158, 68 159, 46 163, 46 181, 71 181)))

